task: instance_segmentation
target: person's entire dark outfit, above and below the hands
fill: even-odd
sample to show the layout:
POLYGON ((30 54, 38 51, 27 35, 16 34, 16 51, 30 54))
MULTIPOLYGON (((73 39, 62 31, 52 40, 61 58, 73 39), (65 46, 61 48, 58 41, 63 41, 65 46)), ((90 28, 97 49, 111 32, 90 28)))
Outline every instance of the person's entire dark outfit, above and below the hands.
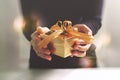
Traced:
MULTIPOLYGON (((101 27, 103 0, 21 0, 23 16, 27 21, 23 33, 31 40, 31 33, 35 31, 32 14, 39 18, 41 26, 50 27, 58 20, 71 20, 74 24, 86 24, 95 35, 101 27)), ((94 52, 94 51, 92 51, 94 52)), ((87 54, 92 54, 88 51, 87 54)), ((95 54, 92 55, 95 57, 95 54)), ((30 67, 79 67, 78 57, 60 58, 52 55, 52 61, 44 60, 36 55, 31 47, 30 67)))

